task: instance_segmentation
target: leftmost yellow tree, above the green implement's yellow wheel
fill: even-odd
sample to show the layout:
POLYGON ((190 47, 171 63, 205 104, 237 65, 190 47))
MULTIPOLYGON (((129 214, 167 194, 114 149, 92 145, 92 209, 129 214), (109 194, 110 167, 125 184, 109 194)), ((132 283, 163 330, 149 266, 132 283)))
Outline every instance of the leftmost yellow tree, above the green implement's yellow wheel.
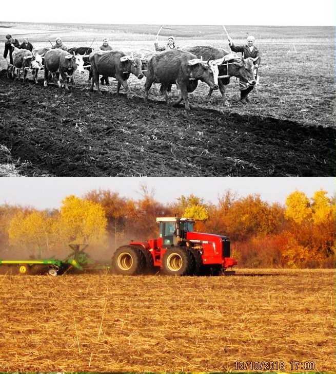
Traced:
POLYGON ((16 250, 24 249, 27 254, 42 254, 50 250, 52 218, 47 212, 34 210, 19 211, 10 221, 8 236, 10 245, 16 250))

